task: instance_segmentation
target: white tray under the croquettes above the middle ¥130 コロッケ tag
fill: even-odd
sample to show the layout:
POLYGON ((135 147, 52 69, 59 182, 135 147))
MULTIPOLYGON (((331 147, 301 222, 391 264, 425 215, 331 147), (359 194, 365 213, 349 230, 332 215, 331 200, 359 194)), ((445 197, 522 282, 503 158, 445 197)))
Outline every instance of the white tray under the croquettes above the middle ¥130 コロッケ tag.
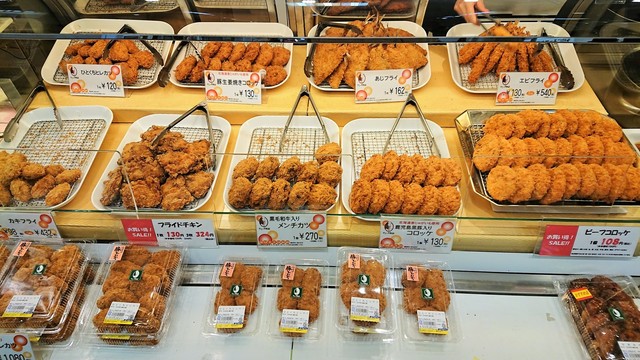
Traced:
MULTIPOLYGON (((386 131, 384 134, 385 140, 388 136, 388 132, 391 131, 391 127, 393 126, 393 122, 395 119, 391 118, 363 118, 363 119, 355 119, 350 121, 345 127, 342 129, 342 153, 343 154, 352 154, 353 145, 351 142, 351 136, 354 133, 358 132, 372 132, 372 131, 386 131)), ((434 123, 431 120, 426 120, 429 125, 429 130, 431 130, 431 134, 435 140, 435 144, 440 151, 441 158, 451 157, 449 154, 449 148, 447 147, 447 141, 444 137, 444 131, 442 128, 434 123)), ((396 131, 402 130, 414 130, 424 132, 424 128, 420 123, 420 119, 401 119, 398 123, 398 127, 396 127, 396 131)), ((394 149, 398 150, 406 150, 410 153, 414 149, 394 149)), ((398 151, 400 153, 400 151, 398 151)), ((355 213, 351 210, 351 206, 349 206, 349 195, 351 194, 351 187, 353 182, 356 180, 356 169, 354 169, 355 157, 362 156, 361 154, 353 155, 353 161, 348 164, 342 164, 342 205, 347 211, 353 215, 355 213)), ((367 220, 367 221, 379 221, 378 218, 372 217, 362 217, 356 216, 359 219, 367 220)))

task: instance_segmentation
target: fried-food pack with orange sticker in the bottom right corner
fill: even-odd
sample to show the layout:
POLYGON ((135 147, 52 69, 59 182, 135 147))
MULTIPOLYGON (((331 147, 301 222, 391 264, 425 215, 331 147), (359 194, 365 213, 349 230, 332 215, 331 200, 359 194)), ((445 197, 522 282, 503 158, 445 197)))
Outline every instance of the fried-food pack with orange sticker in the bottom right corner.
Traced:
POLYGON ((629 276, 568 276, 554 281, 592 359, 637 359, 640 291, 629 276))

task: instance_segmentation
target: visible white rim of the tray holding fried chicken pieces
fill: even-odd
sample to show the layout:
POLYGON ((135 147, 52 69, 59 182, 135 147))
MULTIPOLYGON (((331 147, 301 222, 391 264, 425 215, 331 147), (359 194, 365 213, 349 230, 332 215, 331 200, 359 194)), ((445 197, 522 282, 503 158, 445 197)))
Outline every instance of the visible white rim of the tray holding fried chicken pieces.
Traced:
MULTIPOLYGON (((117 148, 118 152, 121 154, 126 144, 130 142, 140 141, 140 134, 147 131, 152 125, 167 126, 173 120, 178 118, 178 116, 179 115, 176 115, 176 114, 153 114, 153 115, 144 116, 136 120, 133 124, 131 124, 131 126, 129 127, 129 130, 127 130, 127 133, 122 138, 120 145, 118 145, 118 148, 117 148)), ((226 119, 221 118, 219 116, 209 116, 209 118, 211 119, 212 128, 214 130, 222 131, 222 138, 220 139, 220 143, 215 149, 216 167, 212 171, 214 175, 213 183, 211 184, 209 191, 207 191, 207 194, 203 198, 195 200, 195 204, 191 206, 187 211, 197 210, 202 205, 204 205, 211 197, 213 188, 215 187, 216 182, 218 181, 220 166, 222 164, 222 161, 224 160, 223 153, 226 150, 227 144, 229 142, 229 134, 231 133, 231 125, 229 124, 229 122, 226 119)), ((206 129, 207 121, 205 120, 204 115, 189 115, 186 119, 182 120, 178 125, 176 125, 176 127, 174 127, 172 131, 179 132, 180 128, 185 128, 185 127, 206 129)), ((209 137, 205 136, 204 139, 208 140, 209 137)), ((98 181, 96 188, 93 190, 93 193, 91 194, 91 203, 98 210, 114 209, 113 207, 106 207, 102 205, 100 203, 100 198, 102 197, 102 190, 104 189, 103 182, 109 178, 109 172, 118 167, 118 160, 120 159, 119 153, 113 154, 113 156, 111 157, 111 161, 109 161, 109 164, 104 169, 104 172, 100 177, 100 181, 98 181)), ((126 210, 124 207, 122 207, 121 209, 126 210)), ((144 209, 144 210, 162 211, 161 208, 144 209)))

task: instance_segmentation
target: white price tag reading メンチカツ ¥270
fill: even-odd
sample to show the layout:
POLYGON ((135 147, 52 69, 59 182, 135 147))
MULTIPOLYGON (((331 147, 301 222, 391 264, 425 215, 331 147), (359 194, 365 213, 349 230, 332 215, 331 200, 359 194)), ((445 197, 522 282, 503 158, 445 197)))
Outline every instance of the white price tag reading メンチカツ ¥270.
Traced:
POLYGON ((260 247, 327 247, 326 213, 257 214, 260 247))

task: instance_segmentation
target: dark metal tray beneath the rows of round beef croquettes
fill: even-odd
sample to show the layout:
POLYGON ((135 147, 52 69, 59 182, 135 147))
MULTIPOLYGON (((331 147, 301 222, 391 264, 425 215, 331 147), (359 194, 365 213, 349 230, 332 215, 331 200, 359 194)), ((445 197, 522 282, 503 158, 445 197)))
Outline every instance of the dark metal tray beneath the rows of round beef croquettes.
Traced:
MULTIPOLYGON (((471 174, 471 185, 473 191, 489 201, 491 208, 495 212, 514 212, 514 213, 545 213, 545 214, 626 214, 626 206, 638 206, 640 203, 635 201, 617 200, 613 205, 597 202, 593 200, 563 200, 551 205, 541 205, 537 201, 531 201, 521 205, 510 204, 507 202, 498 202, 494 200, 487 191, 487 176, 489 173, 483 174, 473 165, 473 149, 476 143, 484 135, 484 122, 495 114, 513 114, 522 110, 467 110, 456 118, 456 129, 462 151, 466 159, 465 163, 469 174, 471 174)), ((549 113, 553 111, 547 111, 549 113)), ((625 135, 625 141, 626 135, 625 135)), ((630 145, 633 146, 633 145, 630 145)))

